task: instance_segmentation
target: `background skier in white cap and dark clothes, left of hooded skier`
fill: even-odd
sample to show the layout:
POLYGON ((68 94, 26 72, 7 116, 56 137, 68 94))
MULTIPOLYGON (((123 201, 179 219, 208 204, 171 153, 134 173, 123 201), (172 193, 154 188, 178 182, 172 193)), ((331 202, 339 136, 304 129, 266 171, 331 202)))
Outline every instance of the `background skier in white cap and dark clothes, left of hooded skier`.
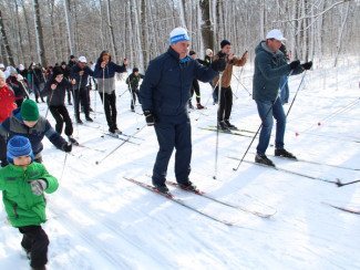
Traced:
POLYGON ((75 79, 76 87, 74 92, 74 110, 76 114, 76 122, 82 124, 83 122, 80 118, 80 108, 79 104, 84 107, 85 120, 93 122, 90 117, 90 106, 89 106, 89 91, 88 91, 88 79, 93 76, 94 72, 86 65, 85 56, 80 56, 78 63, 71 68, 70 77, 75 79))

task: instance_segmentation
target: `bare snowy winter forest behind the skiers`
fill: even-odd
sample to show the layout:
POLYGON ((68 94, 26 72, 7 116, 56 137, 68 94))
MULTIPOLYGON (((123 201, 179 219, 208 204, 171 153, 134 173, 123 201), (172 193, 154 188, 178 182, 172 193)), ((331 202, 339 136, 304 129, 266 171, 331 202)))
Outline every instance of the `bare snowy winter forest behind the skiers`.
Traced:
POLYGON ((255 45, 279 28, 292 59, 331 58, 333 66, 360 46, 358 0, 9 0, 0 3, 1 55, 7 65, 43 66, 110 50, 115 62, 145 71, 168 46, 176 27, 188 29, 192 49, 218 51, 227 39, 235 54, 254 59, 255 45))

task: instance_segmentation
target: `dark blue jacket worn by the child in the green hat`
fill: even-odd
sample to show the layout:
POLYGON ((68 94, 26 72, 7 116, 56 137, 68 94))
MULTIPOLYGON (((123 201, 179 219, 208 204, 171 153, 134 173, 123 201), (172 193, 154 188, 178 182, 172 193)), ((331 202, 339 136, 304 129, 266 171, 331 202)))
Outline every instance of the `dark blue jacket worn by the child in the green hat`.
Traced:
POLYGON ((28 127, 20 115, 20 107, 13 110, 12 115, 2 122, 0 125, 0 135, 3 137, 8 136, 8 141, 14 135, 21 135, 29 138, 34 156, 43 149, 41 141, 44 136, 47 136, 59 149, 62 149, 62 146, 66 144, 66 141, 61 137, 60 134, 52 128, 49 121, 41 115, 37 125, 31 128, 28 127))

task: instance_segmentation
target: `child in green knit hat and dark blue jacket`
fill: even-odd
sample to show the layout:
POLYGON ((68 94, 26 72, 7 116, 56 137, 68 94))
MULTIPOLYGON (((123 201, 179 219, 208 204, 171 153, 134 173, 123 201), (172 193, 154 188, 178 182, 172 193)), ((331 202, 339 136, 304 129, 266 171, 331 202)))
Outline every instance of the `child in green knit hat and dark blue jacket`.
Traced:
MULTIPOLYGON (((0 125, 0 136, 9 142, 13 136, 21 135, 31 142, 34 159, 42 163, 42 139, 44 136, 59 149, 71 152, 72 145, 50 125, 49 121, 39 114, 38 104, 32 100, 25 100, 21 107, 12 111, 11 116, 0 125)), ((7 162, 1 160, 1 166, 7 162)))

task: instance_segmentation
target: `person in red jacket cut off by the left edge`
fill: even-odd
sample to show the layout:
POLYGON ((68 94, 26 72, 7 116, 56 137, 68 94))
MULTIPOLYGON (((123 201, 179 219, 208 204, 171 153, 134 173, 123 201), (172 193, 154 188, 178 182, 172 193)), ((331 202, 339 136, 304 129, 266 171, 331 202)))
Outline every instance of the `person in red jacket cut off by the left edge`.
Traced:
MULTIPOLYGON (((6 75, 0 70, 0 124, 17 108, 13 90, 7 84, 6 75)), ((0 136, 0 160, 7 159, 7 142, 0 136)))

